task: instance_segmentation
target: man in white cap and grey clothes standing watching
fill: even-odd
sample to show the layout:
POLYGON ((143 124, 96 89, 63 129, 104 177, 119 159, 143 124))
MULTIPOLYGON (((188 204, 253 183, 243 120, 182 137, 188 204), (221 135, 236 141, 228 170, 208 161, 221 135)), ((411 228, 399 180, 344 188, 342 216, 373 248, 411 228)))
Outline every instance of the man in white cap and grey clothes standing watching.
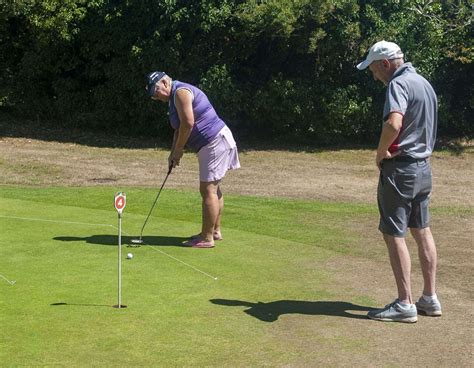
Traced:
POLYGON ((387 86, 383 128, 375 164, 380 170, 377 201, 379 230, 387 244, 398 298, 382 309, 368 313, 380 321, 416 322, 417 310, 441 316, 436 296, 436 246, 429 227, 428 203, 431 166, 437 128, 436 94, 393 42, 380 41, 367 59, 357 65, 369 67, 375 80, 387 86), (423 295, 413 304, 411 260, 405 243, 407 229, 418 244, 423 272, 423 295))

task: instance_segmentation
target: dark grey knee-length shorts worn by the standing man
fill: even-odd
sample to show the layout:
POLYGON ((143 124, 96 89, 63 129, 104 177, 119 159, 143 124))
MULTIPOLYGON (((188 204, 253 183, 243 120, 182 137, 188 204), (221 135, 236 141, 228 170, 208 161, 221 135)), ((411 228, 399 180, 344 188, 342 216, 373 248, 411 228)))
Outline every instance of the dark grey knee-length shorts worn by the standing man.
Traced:
POLYGON ((429 160, 384 160, 377 190, 379 230, 384 234, 404 237, 409 227, 428 227, 431 189, 429 160))

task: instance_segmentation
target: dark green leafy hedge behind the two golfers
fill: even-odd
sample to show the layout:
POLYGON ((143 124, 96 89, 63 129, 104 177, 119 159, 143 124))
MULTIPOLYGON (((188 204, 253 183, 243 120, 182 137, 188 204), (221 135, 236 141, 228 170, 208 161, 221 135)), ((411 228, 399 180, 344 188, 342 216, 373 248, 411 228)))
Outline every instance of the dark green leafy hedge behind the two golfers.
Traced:
POLYGON ((392 40, 430 80, 439 130, 473 135, 467 1, 17 0, 0 4, 0 105, 64 127, 168 135, 144 93, 200 86, 241 139, 374 143, 384 87, 355 65, 392 40))

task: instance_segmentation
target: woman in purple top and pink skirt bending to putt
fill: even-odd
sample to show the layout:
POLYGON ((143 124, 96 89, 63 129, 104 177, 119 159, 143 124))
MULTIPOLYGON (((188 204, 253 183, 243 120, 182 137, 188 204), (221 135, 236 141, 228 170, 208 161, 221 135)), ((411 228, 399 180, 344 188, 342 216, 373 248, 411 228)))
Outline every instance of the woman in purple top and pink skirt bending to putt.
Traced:
POLYGON ((185 145, 198 156, 202 228, 184 245, 212 248, 214 240, 222 239, 220 226, 224 197, 220 181, 227 170, 240 167, 232 132, 199 88, 173 81, 164 72, 148 74, 146 88, 153 100, 169 103, 170 124, 174 129, 169 165, 179 166, 185 145))

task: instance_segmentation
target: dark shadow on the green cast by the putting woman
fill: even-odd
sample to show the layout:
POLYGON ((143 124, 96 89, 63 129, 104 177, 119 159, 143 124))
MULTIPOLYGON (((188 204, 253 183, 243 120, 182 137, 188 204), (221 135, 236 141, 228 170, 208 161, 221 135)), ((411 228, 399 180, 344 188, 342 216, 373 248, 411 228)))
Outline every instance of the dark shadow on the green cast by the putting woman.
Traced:
MULTIPOLYGON (((122 236, 122 245, 131 245, 133 239, 138 239, 138 236, 122 236)), ((188 238, 179 236, 144 236, 142 238, 144 245, 151 246, 175 246, 182 247, 183 242, 188 238)), ((87 244, 95 245, 118 245, 117 235, 91 235, 91 236, 56 236, 53 240, 61 242, 85 242, 87 244)))

